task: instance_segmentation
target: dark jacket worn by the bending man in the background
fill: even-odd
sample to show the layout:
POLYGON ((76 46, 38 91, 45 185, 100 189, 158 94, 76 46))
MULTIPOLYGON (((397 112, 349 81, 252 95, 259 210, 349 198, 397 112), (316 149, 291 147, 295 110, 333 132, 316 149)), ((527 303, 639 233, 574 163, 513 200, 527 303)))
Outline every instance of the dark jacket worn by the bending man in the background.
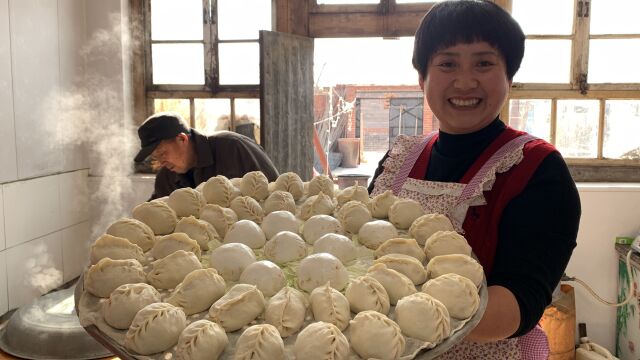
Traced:
POLYGON ((244 135, 223 131, 205 136, 192 129, 191 141, 196 150, 196 166, 186 174, 160 169, 151 199, 167 196, 176 189, 195 188, 216 175, 232 179, 260 170, 269 181, 275 181, 278 177, 278 170, 264 149, 244 135))

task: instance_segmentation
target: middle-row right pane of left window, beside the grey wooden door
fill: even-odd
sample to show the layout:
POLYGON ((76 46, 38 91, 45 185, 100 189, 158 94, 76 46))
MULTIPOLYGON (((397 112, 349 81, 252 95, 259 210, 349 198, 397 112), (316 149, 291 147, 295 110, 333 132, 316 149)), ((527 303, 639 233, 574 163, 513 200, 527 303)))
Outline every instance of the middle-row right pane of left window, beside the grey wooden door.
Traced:
POLYGON ((219 44, 220 84, 260 83, 260 48, 258 43, 219 44))

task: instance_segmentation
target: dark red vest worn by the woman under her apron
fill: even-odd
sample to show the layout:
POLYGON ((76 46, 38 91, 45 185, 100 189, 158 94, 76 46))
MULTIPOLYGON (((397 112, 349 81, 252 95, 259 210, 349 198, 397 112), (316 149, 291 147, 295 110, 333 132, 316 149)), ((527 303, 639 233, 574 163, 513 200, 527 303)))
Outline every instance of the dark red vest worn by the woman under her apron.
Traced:
MULTIPOLYGON (((496 151, 510 140, 523 134, 525 133, 522 131, 507 127, 480 154, 459 182, 467 184, 496 151)), ((409 173, 410 178, 424 179, 424 174, 426 174, 429 166, 431 150, 437 138, 438 136, 436 135, 427 143, 409 173)), ((464 237, 480 260, 480 264, 484 267, 487 276, 491 273, 493 267, 498 245, 498 226, 502 218, 502 211, 514 197, 524 190, 542 160, 554 151, 556 151, 555 147, 542 139, 526 143, 523 148, 522 161, 507 172, 497 174, 493 188, 484 192, 487 204, 472 206, 467 210, 467 216, 462 224, 462 228, 465 231, 464 237)))

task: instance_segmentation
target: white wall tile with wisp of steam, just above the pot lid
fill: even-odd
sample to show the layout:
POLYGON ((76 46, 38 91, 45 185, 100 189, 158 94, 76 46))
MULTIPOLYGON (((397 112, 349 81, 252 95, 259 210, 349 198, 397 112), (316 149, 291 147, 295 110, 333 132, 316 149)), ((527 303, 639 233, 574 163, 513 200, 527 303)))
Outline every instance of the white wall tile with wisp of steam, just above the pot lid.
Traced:
POLYGON ((7 249, 9 309, 28 304, 63 284, 62 232, 7 249))

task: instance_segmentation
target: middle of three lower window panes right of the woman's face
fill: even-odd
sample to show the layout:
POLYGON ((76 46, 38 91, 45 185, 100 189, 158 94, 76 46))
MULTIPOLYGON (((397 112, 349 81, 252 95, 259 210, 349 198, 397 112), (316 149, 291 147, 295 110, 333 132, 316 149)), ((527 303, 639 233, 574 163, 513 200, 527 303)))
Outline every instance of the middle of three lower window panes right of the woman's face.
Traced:
POLYGON ((569 158, 598 154, 598 100, 558 100, 556 147, 569 158))

